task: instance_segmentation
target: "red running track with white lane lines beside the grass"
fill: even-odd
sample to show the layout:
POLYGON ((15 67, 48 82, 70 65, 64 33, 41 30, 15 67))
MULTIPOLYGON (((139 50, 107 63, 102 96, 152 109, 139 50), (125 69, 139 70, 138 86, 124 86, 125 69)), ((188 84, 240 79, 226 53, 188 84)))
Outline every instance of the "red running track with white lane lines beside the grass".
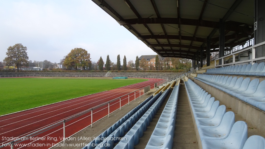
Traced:
MULTIPOLYGON (((22 111, 14 114, 9 114, 0 117, 0 147, 5 143, 9 143, 16 138, 23 137, 30 133, 41 130, 50 125, 56 124, 64 119, 72 117, 76 114, 84 112, 87 109, 91 109, 100 104, 116 99, 120 96, 129 94, 110 102, 110 113, 120 108, 121 106, 128 104, 129 101, 139 97, 139 89, 151 85, 151 89, 154 88, 154 83, 157 83, 163 79, 150 78, 148 81, 136 83, 129 86, 120 87, 110 91, 104 91, 88 96, 83 96, 27 111, 22 111), (138 90, 138 91, 137 91, 138 90), (121 101, 120 101, 121 100, 121 101)), ((141 95, 143 89, 141 90, 141 95)), ((93 123, 108 114, 108 104, 102 107, 93 109, 93 123)), ((83 128, 91 125, 91 111, 83 114, 75 119, 71 119, 65 123, 66 137, 73 135, 74 133, 82 130, 83 128)), ((63 123, 52 127, 48 131, 32 136, 32 138, 24 139, 21 143, 17 143, 15 148, 50 148, 54 144, 62 141, 63 137, 63 123), (37 140, 36 140, 37 139, 37 140), (24 147, 19 145, 27 144, 24 147), (17 145, 17 146, 16 146, 17 145), (34 147, 38 146, 38 147, 34 147)), ((82 136, 90 137, 90 136, 82 136)), ((77 139, 77 138, 76 138, 77 139)), ((78 142, 78 141, 77 141, 78 142)), ((87 141, 89 142, 89 141, 87 141)), ((10 147, 4 147, 10 148, 10 147)), ((80 147, 81 148, 81 147, 80 147)))

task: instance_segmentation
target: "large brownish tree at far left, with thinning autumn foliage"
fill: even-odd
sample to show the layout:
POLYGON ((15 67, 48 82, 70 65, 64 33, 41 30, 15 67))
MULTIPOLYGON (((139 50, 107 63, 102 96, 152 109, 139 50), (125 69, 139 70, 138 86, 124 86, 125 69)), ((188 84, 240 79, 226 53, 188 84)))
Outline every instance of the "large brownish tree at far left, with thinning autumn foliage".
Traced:
POLYGON ((19 67, 27 66, 29 63, 29 57, 26 51, 27 47, 24 47, 21 43, 9 46, 4 63, 6 66, 15 65, 17 70, 19 70, 19 67))

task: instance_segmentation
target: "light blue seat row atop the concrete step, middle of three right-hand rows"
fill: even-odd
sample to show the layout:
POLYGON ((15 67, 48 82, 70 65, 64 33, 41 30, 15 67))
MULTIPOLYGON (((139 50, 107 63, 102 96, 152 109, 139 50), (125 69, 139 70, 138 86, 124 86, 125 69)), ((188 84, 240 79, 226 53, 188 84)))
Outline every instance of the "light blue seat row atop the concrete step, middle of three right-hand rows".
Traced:
POLYGON ((194 78, 265 111, 265 80, 205 74, 194 78))

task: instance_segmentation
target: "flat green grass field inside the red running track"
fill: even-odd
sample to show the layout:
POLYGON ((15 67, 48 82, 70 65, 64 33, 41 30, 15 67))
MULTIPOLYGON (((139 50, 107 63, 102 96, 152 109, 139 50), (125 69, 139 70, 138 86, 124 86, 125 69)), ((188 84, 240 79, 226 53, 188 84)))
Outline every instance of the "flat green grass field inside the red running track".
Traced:
POLYGON ((99 78, 0 78, 0 115, 146 81, 99 78))

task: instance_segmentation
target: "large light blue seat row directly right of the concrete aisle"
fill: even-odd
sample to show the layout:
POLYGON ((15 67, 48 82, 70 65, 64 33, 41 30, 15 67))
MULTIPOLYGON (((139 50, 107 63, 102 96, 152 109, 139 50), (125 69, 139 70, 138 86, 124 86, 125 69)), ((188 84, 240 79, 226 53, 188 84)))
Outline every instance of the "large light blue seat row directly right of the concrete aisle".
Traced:
POLYGON ((184 83, 203 149, 265 149, 263 137, 248 138, 246 122, 235 122, 233 112, 226 112, 225 105, 219 106, 219 101, 190 79, 184 83))

